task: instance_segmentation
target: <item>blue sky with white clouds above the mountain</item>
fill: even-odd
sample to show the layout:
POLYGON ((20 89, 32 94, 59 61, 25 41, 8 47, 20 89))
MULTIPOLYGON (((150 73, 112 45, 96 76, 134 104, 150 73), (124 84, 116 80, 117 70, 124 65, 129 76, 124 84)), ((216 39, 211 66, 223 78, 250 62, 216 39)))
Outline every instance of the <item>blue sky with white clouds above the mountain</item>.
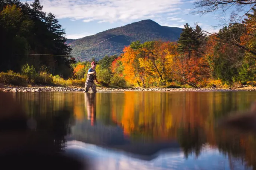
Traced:
MULTIPOLYGON (((29 2, 29 1, 28 1, 29 2)), ((191 15, 194 0, 40 0, 43 11, 52 12, 72 39, 114 27, 151 19, 162 26, 183 28, 185 23, 214 32, 215 13, 191 15)), ((29 2, 31 3, 31 2, 29 2)), ((229 17, 229 12, 226 14, 229 17)))

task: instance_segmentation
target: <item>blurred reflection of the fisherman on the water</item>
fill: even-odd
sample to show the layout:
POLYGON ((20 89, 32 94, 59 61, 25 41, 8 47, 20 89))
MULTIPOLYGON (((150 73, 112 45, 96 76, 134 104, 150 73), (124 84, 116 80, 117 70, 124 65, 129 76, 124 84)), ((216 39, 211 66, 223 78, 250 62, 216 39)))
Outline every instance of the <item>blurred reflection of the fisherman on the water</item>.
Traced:
POLYGON ((96 121, 95 93, 85 94, 85 107, 87 108, 87 119, 91 121, 91 126, 93 126, 96 121))

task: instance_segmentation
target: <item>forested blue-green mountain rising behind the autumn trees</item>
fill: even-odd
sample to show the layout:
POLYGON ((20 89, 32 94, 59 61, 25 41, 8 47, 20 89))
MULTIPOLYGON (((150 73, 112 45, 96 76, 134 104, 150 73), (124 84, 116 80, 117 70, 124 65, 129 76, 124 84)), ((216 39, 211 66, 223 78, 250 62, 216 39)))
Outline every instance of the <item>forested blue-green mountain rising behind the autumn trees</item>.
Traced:
POLYGON ((177 41, 181 32, 182 29, 178 27, 161 26, 152 20, 142 20, 84 38, 67 39, 66 43, 70 44, 73 49, 71 55, 77 60, 85 61, 91 58, 99 60, 105 55, 111 56, 121 52, 124 46, 128 46, 131 42, 137 40, 141 43, 155 40, 177 41), (123 33, 125 34, 120 35, 123 33), (111 38, 112 36, 115 37, 111 38), (104 42, 100 43, 101 41, 104 42), (89 48, 94 44, 98 45, 89 48))

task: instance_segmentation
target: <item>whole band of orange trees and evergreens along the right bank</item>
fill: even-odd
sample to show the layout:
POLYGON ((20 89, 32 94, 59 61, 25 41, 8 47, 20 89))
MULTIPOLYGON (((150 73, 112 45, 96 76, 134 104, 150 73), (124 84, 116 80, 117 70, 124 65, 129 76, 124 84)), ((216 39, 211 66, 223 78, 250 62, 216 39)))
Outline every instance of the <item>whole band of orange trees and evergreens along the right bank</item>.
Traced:
POLYGON ((186 24, 177 42, 133 42, 112 62, 112 74, 134 87, 254 85, 255 18, 250 14, 212 35, 186 24))

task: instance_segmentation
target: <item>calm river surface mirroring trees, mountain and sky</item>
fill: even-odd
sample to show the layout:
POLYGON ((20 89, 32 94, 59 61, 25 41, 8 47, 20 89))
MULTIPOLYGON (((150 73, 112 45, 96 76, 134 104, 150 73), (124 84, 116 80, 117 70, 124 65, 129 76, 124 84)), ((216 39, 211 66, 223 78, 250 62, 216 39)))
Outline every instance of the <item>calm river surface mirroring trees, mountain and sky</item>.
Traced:
POLYGON ((12 95, 36 131, 97 170, 256 168, 256 136, 216 128, 229 112, 248 110, 255 91, 12 95))

